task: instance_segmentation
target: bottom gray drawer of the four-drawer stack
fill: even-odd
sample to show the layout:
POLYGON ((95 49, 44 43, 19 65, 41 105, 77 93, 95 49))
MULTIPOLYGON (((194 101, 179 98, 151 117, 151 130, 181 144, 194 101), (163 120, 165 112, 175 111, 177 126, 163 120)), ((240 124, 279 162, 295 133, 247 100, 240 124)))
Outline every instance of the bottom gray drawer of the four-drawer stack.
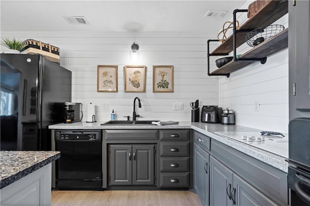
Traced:
POLYGON ((189 173, 160 173, 159 187, 189 187, 189 173))

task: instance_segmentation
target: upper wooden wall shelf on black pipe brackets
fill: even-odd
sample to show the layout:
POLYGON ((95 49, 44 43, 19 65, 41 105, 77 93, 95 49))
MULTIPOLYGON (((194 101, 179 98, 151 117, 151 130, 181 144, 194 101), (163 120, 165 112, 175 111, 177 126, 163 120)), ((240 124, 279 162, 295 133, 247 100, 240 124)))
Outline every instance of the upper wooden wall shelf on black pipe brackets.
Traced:
MULTIPOLYGON (((254 30, 267 27, 277 21, 280 17, 288 13, 288 0, 272 0, 266 4, 251 19, 240 26, 238 30, 254 30)), ((247 32, 239 32, 236 35, 236 47, 246 42, 247 32)), ((211 54, 225 54, 233 51, 233 35, 229 36, 225 42, 220 44, 211 54)))

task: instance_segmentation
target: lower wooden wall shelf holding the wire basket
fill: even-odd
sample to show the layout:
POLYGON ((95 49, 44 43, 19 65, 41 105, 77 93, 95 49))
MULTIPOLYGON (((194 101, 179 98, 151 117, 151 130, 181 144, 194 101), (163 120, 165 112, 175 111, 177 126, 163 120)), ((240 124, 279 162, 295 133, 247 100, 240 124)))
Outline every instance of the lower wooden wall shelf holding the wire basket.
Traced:
MULTIPOLYGON (((261 59, 269 55, 272 55, 276 52, 279 52, 282 49, 288 47, 288 29, 284 29, 279 34, 271 37, 267 41, 255 46, 247 53, 243 54, 239 59, 261 59)), ((218 68, 216 71, 211 74, 229 74, 233 71, 236 71, 242 67, 245 67, 253 61, 230 61, 222 67, 218 68)))

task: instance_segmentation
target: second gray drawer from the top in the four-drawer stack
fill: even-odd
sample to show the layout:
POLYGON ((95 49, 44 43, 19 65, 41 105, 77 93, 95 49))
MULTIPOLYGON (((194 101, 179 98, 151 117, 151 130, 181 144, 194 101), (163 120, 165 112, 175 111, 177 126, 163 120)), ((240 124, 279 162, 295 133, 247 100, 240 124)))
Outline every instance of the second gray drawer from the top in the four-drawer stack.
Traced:
POLYGON ((161 142, 160 156, 189 156, 189 142, 161 142))

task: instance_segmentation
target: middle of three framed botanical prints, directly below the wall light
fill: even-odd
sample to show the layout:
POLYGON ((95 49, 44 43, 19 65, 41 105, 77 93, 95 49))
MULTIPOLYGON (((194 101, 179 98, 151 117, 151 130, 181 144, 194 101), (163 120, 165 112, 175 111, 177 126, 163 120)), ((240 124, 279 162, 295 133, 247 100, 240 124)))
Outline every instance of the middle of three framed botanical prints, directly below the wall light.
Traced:
POLYGON ((145 92, 145 66, 125 66, 125 92, 145 92))

